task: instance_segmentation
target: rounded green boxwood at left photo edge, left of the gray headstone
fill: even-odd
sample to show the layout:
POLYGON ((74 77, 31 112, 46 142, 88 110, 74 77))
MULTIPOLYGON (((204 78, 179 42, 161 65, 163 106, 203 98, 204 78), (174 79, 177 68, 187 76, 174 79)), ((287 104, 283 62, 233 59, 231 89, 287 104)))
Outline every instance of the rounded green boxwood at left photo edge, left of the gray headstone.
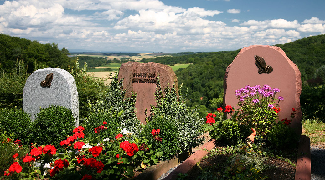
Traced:
MULTIPOLYGON (((34 127, 31 115, 21 109, 0 109, 0 132, 13 133, 22 144, 28 145, 31 141, 31 131, 34 127)), ((15 140, 16 140, 15 139, 15 140)))

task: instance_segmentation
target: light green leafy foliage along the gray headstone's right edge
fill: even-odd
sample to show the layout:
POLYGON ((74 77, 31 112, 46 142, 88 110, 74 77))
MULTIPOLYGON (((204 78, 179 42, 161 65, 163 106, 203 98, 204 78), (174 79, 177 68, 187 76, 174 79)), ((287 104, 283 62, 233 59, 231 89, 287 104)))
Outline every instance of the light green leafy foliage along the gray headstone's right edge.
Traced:
POLYGON ((74 66, 70 68, 70 74, 74 77, 77 85, 79 96, 79 120, 83 122, 84 118, 89 115, 90 109, 88 103, 97 102, 100 99, 99 93, 105 91, 107 88, 104 85, 106 79, 94 78, 86 73, 87 63, 84 68, 79 67, 79 58, 74 62, 74 66))

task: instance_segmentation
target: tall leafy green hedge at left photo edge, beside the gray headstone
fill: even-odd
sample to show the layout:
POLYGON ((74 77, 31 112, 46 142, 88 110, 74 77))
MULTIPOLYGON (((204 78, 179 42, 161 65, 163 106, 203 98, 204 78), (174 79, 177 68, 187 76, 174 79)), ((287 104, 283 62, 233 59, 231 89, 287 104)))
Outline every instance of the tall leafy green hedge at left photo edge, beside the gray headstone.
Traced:
POLYGON ((28 76, 22 60, 17 61, 11 72, 2 69, 0 64, 0 108, 22 108, 23 91, 28 76))

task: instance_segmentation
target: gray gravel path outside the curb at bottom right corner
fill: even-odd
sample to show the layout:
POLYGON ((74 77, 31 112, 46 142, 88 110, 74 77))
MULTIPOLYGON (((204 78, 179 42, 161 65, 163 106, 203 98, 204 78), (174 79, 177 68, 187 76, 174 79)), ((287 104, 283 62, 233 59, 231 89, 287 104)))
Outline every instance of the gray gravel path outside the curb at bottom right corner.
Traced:
POLYGON ((325 149, 317 145, 310 147, 311 179, 325 179, 325 149))

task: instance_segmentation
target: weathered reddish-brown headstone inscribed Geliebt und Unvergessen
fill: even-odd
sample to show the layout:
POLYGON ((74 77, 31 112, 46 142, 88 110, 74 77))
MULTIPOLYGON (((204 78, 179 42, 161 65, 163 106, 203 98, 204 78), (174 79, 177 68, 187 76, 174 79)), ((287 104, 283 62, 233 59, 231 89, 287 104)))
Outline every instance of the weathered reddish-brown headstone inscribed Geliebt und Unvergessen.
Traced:
POLYGON ((150 114, 150 105, 156 105, 155 91, 157 88, 157 78, 162 90, 167 86, 172 87, 175 83, 178 92, 177 77, 170 66, 149 62, 127 62, 123 63, 119 69, 118 79, 123 78, 123 89, 126 96, 131 96, 136 92, 136 117, 142 124, 146 123, 147 114, 150 114))

